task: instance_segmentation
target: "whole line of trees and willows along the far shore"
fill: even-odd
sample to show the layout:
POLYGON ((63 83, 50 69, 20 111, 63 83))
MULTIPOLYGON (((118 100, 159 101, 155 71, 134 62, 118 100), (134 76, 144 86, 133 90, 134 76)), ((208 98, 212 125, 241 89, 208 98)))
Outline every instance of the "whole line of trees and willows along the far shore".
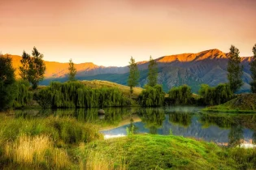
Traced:
MULTIPOLYGON (((202 84, 199 90, 201 96, 201 103, 203 104, 222 104, 227 100, 230 100, 233 93, 238 91, 243 85, 241 57, 239 56, 239 49, 235 46, 231 46, 228 53, 228 83, 221 83, 216 87, 210 87, 209 85, 202 84)), ((249 63, 251 77, 253 81, 250 83, 251 91, 256 93, 256 44, 253 47, 254 57, 249 63)), ((64 95, 67 91, 58 91, 54 89, 58 83, 51 83, 50 87, 44 89, 37 89, 38 83, 44 79, 46 72, 46 65, 43 62, 44 55, 40 53, 36 47, 33 48, 32 54, 28 54, 25 51, 22 54, 20 61, 20 79, 15 79, 15 70, 11 65, 11 57, 3 56, 0 54, 0 108, 6 109, 11 107, 24 107, 31 102, 31 100, 41 99, 38 101, 41 105, 47 105, 43 100, 46 100, 46 94, 51 97, 51 106, 53 107, 93 107, 93 106, 121 106, 125 105, 125 102, 131 102, 133 87, 136 87, 139 83, 140 72, 137 67, 135 59, 131 57, 129 62, 129 76, 128 86, 130 87, 130 100, 120 96, 120 92, 117 89, 101 89, 101 90, 89 90, 88 88, 78 88, 73 91, 72 97, 67 101, 67 96, 64 95), (34 90, 37 89, 37 96, 35 98, 34 90), (51 91, 50 91, 51 90, 51 91), (62 94, 61 94, 62 93, 62 94), (110 93, 115 99, 121 100, 121 104, 117 104, 116 100, 108 100, 107 95, 110 93), (87 104, 88 95, 95 94, 98 96, 95 99, 100 100, 98 104, 87 104), (99 95, 100 94, 100 95, 99 95), (103 97, 105 94, 105 97, 103 97), (73 97, 76 96, 76 97, 73 97), (99 97, 101 96, 101 97, 99 97), (76 98, 76 100, 75 100, 76 98), (63 100, 64 99, 64 100, 63 100), (104 103, 104 100, 106 102, 104 103), (66 103, 65 103, 66 102, 66 103), (71 103, 69 103, 71 102, 71 103), (73 103, 72 103, 73 102, 73 103), (123 102, 123 103, 122 103, 123 102), (61 103, 61 104, 60 104, 61 103)), ((68 67, 68 80, 69 82, 76 81, 76 67, 69 61, 68 67)), ((69 84, 73 88, 72 83, 63 83, 59 86, 68 87, 69 84)), ((77 85, 77 84, 76 84, 77 85)), ((77 85, 78 86, 78 85, 77 85)), ((71 91, 68 91, 71 92, 71 91)), ((163 91, 162 85, 158 84, 158 64, 150 57, 148 63, 148 76, 145 89, 141 91, 141 95, 137 101, 141 106, 163 106, 166 103, 169 104, 193 104, 194 97, 191 91, 191 87, 183 85, 180 87, 173 87, 168 91, 168 97, 163 91)), ((95 101, 94 101, 95 102, 95 101)))

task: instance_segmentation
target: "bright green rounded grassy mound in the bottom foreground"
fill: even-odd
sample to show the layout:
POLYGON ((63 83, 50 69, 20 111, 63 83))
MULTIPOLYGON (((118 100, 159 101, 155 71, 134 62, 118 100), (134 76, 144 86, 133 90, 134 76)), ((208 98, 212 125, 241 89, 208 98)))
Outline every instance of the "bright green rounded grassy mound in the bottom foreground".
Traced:
POLYGON ((173 135, 132 135, 91 142, 80 147, 77 154, 84 169, 101 169, 104 165, 105 169, 256 168, 253 149, 224 149, 173 135))

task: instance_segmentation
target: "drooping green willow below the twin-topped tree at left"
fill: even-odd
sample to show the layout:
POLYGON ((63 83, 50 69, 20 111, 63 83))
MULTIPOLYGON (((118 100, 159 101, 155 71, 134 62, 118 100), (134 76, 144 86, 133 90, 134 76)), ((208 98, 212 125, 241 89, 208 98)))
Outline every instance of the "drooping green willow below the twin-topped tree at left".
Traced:
POLYGON ((33 92, 29 91, 29 83, 27 80, 18 80, 16 82, 18 91, 15 97, 14 107, 20 108, 27 106, 33 100, 33 92))

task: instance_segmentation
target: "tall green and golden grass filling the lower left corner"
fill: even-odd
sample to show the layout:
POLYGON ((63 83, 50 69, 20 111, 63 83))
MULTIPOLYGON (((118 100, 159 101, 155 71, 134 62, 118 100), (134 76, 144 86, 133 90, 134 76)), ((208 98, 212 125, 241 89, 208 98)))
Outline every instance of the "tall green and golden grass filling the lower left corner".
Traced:
POLYGON ((0 115, 0 167, 76 168, 72 149, 101 139, 98 126, 72 118, 12 118, 0 115))

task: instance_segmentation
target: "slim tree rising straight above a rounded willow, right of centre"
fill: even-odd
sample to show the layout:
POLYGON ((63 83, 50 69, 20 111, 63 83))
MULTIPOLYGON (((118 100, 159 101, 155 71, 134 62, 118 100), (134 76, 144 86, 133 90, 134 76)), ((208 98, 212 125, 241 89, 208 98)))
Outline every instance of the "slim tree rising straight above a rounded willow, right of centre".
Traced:
POLYGON ((148 66, 149 74, 148 74, 148 85, 150 87, 154 87, 158 83, 158 65, 152 57, 150 56, 150 64, 148 66))

